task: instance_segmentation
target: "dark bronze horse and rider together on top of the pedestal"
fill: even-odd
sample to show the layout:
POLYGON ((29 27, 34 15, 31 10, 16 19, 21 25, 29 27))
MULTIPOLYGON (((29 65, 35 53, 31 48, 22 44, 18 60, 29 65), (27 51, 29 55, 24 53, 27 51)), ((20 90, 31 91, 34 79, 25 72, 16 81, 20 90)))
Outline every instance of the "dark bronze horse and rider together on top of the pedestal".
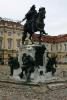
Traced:
POLYGON ((22 20, 26 20, 26 23, 24 24, 22 44, 24 44, 24 41, 27 37, 27 33, 30 34, 29 39, 31 40, 32 35, 35 32, 40 31, 39 42, 41 41, 41 35, 46 34, 44 31, 44 18, 46 13, 45 8, 39 8, 38 12, 35 8, 35 5, 33 5, 28 11, 28 13, 25 15, 25 18, 22 20))

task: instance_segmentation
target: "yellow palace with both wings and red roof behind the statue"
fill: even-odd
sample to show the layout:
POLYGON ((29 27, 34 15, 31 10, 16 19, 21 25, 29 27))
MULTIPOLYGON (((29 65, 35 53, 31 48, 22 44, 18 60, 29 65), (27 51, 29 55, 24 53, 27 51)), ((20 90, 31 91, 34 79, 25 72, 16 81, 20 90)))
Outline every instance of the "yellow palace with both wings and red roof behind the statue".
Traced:
MULTIPOLYGON (((22 41, 23 25, 18 22, 0 18, 0 59, 5 61, 12 55, 15 57, 22 41)), ((33 41, 38 42, 38 34, 33 35, 33 41)), ((57 56, 58 64, 67 65, 67 34, 58 36, 42 36, 49 54, 57 56)))

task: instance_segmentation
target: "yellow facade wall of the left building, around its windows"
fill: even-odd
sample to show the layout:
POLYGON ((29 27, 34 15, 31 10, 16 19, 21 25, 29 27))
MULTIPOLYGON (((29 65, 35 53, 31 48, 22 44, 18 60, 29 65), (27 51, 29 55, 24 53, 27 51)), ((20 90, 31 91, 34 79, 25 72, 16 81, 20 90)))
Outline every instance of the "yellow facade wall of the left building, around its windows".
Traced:
POLYGON ((0 21, 0 32, 3 32, 2 35, 0 34, 0 38, 2 38, 2 48, 0 48, 0 52, 4 62, 8 60, 9 55, 13 57, 16 57, 17 55, 17 40, 22 37, 20 36, 18 38, 16 30, 22 34, 23 26, 12 21, 0 21), (11 32, 12 34, 9 36, 8 32, 11 32), (10 49, 8 48, 8 39, 12 40, 12 47, 10 49))

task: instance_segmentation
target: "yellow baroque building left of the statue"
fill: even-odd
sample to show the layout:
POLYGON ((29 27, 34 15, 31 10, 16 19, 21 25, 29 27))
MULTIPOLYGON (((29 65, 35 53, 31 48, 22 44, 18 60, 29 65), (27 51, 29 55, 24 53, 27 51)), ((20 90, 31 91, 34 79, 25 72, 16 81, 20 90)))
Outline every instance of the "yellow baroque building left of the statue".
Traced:
POLYGON ((17 54, 22 40, 23 26, 15 21, 0 18, 0 58, 8 60, 9 55, 17 54))

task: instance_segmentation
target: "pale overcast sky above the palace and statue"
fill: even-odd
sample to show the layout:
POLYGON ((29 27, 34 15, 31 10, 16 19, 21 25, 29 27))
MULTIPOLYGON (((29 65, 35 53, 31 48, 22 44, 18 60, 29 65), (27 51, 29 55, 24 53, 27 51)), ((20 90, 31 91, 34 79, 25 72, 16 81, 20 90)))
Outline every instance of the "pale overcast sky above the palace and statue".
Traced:
POLYGON ((67 33, 67 0, 0 0, 0 17, 22 20, 35 4, 46 8, 45 31, 49 35, 67 33))

